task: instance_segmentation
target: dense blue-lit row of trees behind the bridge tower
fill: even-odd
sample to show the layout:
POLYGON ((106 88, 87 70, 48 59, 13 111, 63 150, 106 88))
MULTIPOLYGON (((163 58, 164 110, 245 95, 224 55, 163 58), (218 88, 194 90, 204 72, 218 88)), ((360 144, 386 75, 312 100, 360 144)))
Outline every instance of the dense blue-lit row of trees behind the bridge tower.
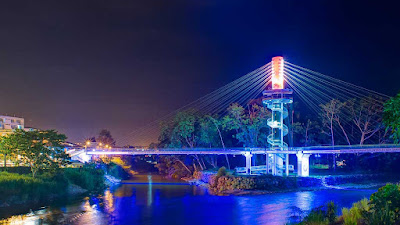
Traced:
MULTIPOLYGON (((399 99, 400 94, 386 103, 371 96, 345 102, 333 99, 320 105, 316 110, 317 116, 295 105, 291 121, 287 122, 292 128, 287 141, 296 147, 397 142, 400 137, 399 99)), ((226 115, 203 115, 196 110, 178 112, 173 119, 161 124, 159 142, 153 147, 268 147, 270 128, 267 120, 271 112, 254 102, 257 101, 245 107, 233 103, 227 108, 226 115)), ((333 157, 333 167, 337 157, 347 161, 349 167, 363 166, 368 160, 385 167, 384 162, 396 159, 386 154, 341 155, 333 157)), ((182 166, 189 163, 193 170, 217 166, 217 160, 212 156, 193 156, 193 159, 177 158, 172 161, 182 166)), ((229 160, 225 163, 229 167, 229 160)), ((188 171, 191 168, 183 169, 188 171)))

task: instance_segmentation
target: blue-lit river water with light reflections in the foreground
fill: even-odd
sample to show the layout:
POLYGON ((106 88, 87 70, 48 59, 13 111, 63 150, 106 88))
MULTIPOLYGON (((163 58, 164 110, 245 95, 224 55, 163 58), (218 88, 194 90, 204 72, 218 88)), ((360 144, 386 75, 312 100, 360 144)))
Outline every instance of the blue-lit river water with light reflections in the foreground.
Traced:
MULTIPOLYGON (((91 196, 14 215, 0 224, 285 224, 301 211, 334 201, 339 207, 376 190, 319 190, 253 196, 213 196, 203 187, 140 175, 91 196)), ((339 210, 340 211, 340 210, 339 210)), ((5 217, 4 212, 0 213, 5 217)))

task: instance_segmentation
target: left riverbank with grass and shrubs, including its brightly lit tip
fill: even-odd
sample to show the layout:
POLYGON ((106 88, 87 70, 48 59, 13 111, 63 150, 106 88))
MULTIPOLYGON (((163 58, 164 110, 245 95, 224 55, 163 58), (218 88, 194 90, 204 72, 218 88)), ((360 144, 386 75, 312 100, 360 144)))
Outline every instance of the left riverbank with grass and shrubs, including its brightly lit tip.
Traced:
MULTIPOLYGON (((24 168, 10 169, 14 173, 0 172, 0 212, 2 216, 49 205, 60 199, 74 199, 88 194, 102 194, 107 186, 120 182, 106 174, 107 169, 95 164, 79 168, 62 168, 44 172, 36 177, 19 174, 24 168)), ((115 169, 114 169, 115 170, 115 169)), ((115 174, 115 173, 114 173, 115 174)))

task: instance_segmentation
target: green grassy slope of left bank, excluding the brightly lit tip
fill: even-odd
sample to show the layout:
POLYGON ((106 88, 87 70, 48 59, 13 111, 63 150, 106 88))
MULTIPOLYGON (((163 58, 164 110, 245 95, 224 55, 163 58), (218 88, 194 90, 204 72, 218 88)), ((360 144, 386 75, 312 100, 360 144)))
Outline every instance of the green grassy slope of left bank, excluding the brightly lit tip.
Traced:
MULTIPOLYGON (((51 201, 78 192, 104 190, 104 172, 95 165, 42 172, 35 178, 24 172, 0 172, 0 207, 51 201)), ((20 169, 20 171, 25 171, 20 169)))

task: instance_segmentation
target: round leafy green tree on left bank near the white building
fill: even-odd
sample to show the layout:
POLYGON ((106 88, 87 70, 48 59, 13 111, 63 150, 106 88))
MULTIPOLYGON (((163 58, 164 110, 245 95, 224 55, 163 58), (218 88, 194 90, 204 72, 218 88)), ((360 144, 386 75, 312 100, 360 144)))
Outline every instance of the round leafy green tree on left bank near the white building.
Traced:
POLYGON ((33 177, 40 169, 56 169, 68 162, 68 155, 62 146, 66 140, 64 134, 54 130, 16 130, 10 136, 22 162, 31 168, 33 177))

